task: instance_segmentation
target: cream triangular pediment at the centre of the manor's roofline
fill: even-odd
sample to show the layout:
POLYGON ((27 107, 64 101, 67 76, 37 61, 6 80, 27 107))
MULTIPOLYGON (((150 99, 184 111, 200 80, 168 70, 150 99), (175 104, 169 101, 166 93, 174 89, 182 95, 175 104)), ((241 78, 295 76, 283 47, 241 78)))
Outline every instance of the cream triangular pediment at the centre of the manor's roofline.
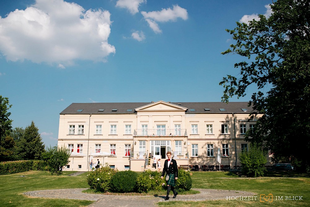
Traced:
POLYGON ((187 108, 165 101, 157 101, 135 109, 136 111, 186 111, 187 108))

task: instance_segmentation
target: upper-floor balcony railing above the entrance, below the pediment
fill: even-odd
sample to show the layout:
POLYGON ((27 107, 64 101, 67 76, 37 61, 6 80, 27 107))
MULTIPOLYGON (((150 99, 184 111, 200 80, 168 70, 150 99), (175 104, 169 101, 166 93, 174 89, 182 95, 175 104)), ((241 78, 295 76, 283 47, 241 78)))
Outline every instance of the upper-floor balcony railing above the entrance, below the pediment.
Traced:
POLYGON ((184 137, 186 129, 135 129, 135 137, 184 137))

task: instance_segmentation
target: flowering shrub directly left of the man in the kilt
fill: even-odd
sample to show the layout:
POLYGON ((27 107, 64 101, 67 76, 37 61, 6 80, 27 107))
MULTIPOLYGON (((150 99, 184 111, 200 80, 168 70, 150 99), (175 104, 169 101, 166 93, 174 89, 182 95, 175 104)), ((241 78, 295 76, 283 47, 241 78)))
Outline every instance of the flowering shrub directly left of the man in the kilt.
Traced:
POLYGON ((161 174, 157 171, 147 170, 137 177, 137 191, 139 193, 148 192, 149 190, 159 191, 166 182, 162 180, 161 174))

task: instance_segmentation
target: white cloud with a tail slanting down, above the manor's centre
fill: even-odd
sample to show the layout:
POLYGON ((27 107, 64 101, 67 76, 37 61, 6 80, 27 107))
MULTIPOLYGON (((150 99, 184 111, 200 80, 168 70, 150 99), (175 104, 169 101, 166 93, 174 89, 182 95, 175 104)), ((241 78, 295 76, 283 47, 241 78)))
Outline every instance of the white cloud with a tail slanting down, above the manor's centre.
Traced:
POLYGON ((141 11, 141 14, 156 34, 162 33, 162 30, 159 28, 157 22, 176 21, 178 18, 183 20, 188 19, 187 10, 179 7, 178 5, 174 5, 172 9, 162 9, 161 11, 141 11))

